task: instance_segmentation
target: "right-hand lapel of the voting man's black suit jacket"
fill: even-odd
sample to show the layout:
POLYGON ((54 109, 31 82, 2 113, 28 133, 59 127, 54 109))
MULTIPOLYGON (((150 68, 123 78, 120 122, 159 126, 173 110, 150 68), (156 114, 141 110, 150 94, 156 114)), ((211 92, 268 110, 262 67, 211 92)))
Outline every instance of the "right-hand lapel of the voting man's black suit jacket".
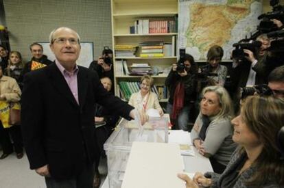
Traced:
POLYGON ((79 67, 79 72, 78 72, 78 97, 79 97, 79 104, 80 108, 84 106, 84 103, 86 102, 86 93, 88 90, 88 77, 86 74, 84 74, 84 70, 79 67))

